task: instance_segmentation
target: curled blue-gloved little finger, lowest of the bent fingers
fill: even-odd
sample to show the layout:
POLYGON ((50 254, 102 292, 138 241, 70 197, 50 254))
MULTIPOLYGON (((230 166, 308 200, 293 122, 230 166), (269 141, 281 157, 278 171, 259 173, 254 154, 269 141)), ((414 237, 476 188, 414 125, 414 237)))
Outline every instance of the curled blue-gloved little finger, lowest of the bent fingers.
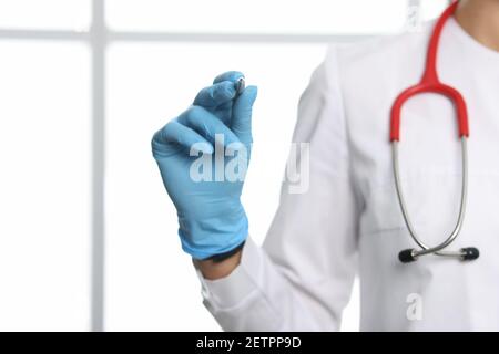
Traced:
POLYGON ((212 154, 213 146, 197 132, 180 124, 176 119, 166 124, 162 129, 160 129, 153 137, 154 145, 160 145, 163 147, 169 147, 171 144, 179 145, 185 148, 193 148, 195 150, 212 154))

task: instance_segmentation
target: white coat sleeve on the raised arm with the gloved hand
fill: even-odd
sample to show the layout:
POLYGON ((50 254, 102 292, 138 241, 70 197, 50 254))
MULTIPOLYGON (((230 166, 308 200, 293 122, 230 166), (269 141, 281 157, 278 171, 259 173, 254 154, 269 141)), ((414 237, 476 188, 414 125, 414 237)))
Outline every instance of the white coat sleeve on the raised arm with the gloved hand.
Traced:
POLYGON ((283 183, 263 247, 249 238, 226 278, 200 274, 204 304, 226 331, 339 329, 357 269, 359 209, 339 81, 332 48, 299 100, 293 137, 298 154, 288 160, 297 171, 309 165, 309 174, 283 183))

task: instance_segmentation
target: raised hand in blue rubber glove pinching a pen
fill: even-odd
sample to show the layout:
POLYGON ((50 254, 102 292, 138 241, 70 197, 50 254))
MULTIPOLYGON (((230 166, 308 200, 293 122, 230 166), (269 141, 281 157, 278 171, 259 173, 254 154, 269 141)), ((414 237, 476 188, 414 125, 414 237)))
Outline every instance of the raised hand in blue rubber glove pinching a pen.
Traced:
POLYGON ((182 248, 195 259, 228 252, 247 237, 248 221, 240 200, 245 170, 241 164, 240 169, 231 167, 237 162, 247 167, 249 162, 257 88, 247 86, 237 95, 242 76, 240 72, 218 75, 152 139, 153 156, 177 210, 182 248), (200 181, 200 176, 208 180, 200 181), (234 176, 243 178, 234 180, 234 176))

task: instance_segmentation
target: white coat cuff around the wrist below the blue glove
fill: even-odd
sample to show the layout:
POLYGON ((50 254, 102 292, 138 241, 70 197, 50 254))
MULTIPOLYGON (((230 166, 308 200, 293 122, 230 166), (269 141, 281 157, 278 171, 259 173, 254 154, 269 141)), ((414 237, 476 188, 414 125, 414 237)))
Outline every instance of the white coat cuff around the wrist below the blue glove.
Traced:
POLYGON ((232 309, 244 303, 257 291, 252 273, 261 268, 261 249, 248 238, 243 248, 241 263, 225 278, 207 280, 197 270, 204 301, 216 309, 232 309))

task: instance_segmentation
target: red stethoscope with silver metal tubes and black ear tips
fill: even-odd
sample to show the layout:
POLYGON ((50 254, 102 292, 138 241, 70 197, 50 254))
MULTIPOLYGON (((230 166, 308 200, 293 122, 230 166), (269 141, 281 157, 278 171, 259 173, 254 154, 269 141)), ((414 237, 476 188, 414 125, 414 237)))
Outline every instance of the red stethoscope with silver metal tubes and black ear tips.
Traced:
POLYGON ((468 129, 468 112, 466 107, 466 102, 462 95, 454 87, 446 85, 440 82, 437 73, 437 52, 438 44, 440 40, 441 30, 447 22, 447 20, 454 14, 458 6, 458 1, 452 2, 452 4, 444 11, 441 17, 438 19, 434 33, 428 46, 428 54, 426 61, 426 70, 422 75, 421 81, 415 86, 408 87, 395 100, 391 107, 391 122, 390 122, 390 143, 393 150, 393 167, 395 177, 395 187, 397 189, 397 197, 400 205, 400 209, 404 216, 404 221, 407 226, 410 237, 419 246, 420 249, 407 249, 398 253, 398 258, 401 262, 408 263, 417 260, 421 256, 426 254, 437 254, 444 257, 458 258, 464 261, 469 261, 477 259, 479 257, 479 251, 475 247, 461 248, 458 251, 447 251, 446 248, 452 243, 462 228, 462 221, 465 219, 466 211, 466 199, 468 191, 468 152, 467 152, 467 139, 469 137, 468 129), (398 167, 398 144, 399 144, 399 131, 400 131, 400 111, 409 98, 415 95, 422 93, 436 93, 447 96, 455 104, 457 111, 457 119, 459 125, 459 137, 461 139, 461 150, 462 150, 462 185, 461 185, 461 200, 459 207, 459 216, 456 222, 456 227, 449 237, 440 244, 430 247, 418 237, 407 211, 406 202, 404 199, 404 194, 400 186, 399 167, 398 167))

